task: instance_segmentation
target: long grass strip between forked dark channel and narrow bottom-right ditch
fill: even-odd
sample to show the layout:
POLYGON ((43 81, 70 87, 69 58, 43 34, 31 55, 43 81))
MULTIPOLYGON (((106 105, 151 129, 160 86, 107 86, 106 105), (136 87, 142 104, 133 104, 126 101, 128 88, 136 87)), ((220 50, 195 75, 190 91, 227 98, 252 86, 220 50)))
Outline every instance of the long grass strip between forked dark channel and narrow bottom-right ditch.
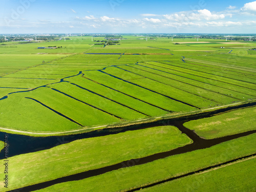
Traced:
MULTIPOLYGON (((255 153, 255 148, 251 143, 255 143, 255 136, 256 134, 253 134, 247 137, 220 143, 204 150, 197 150, 185 154, 170 156, 168 158, 160 159, 143 165, 114 170, 103 175, 90 177, 80 181, 56 184, 48 188, 38 190, 38 192, 74 190, 127 191, 133 188, 139 188, 172 177, 195 172, 196 170, 208 167, 210 165, 220 164, 243 155, 253 154, 255 153), (95 185, 95 183, 97 183, 97 185, 95 185)), ((255 158, 251 161, 255 163, 255 158)), ((238 168, 236 170, 240 170, 240 165, 241 164, 237 165, 238 168)), ((245 171, 247 170, 247 172, 253 173, 253 170, 251 170, 251 164, 246 164, 243 166, 243 168, 245 171)), ((237 174, 237 177, 239 177, 239 172, 237 172, 237 174)), ((215 180, 218 180, 218 176, 216 176, 215 180)), ((189 182, 191 182, 191 180, 189 182)), ((239 184, 243 185, 244 183, 239 182, 239 184)), ((210 186, 211 185, 208 187, 210 186)), ((177 187, 176 184, 174 184, 174 187, 177 187)), ((226 185, 223 187, 228 188, 229 186, 226 185)), ((242 188, 242 186, 240 187, 242 188)), ((247 186, 247 189, 252 190, 254 187, 255 186, 250 184, 247 186)))

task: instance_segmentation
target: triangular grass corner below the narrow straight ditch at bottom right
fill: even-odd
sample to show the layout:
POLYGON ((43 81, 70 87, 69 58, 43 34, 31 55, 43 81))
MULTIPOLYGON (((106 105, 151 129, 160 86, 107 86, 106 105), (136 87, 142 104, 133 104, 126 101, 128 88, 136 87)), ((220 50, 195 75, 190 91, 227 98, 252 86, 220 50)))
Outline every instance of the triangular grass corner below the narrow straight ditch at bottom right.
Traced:
POLYGON ((256 161, 245 159, 141 191, 255 191, 256 161), (248 167, 252 169, 248 170, 248 167), (243 183, 241 185, 241 183, 243 183))

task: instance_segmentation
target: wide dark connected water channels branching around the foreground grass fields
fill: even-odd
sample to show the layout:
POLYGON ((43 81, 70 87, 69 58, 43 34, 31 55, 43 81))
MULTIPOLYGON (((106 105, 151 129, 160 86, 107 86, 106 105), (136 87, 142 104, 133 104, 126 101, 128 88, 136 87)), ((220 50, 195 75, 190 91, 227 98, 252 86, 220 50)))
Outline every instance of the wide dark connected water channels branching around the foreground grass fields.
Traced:
MULTIPOLYGON (((19 155, 19 154, 36 152, 36 151, 40 151, 40 150, 46 150, 48 148, 57 146, 59 144, 69 143, 69 142, 77 140, 77 139, 98 137, 98 136, 105 136, 105 135, 113 135, 113 134, 118 134, 118 133, 125 132, 128 130, 141 130, 141 129, 146 129, 148 127, 163 126, 163 125, 174 125, 174 126, 178 127, 178 129, 182 133, 186 134, 190 139, 192 139, 194 141, 191 144, 176 148, 176 149, 168 151, 168 152, 158 153, 158 154, 154 154, 154 155, 147 156, 147 157, 140 158, 140 159, 132 159, 129 161, 123 161, 123 162, 115 164, 115 165, 106 166, 106 167, 102 167, 102 168, 98 168, 98 169, 94 169, 94 170, 89 170, 87 172, 55 179, 55 180, 44 182, 44 183, 27 186, 27 187, 20 189, 20 191, 33 191, 33 190, 45 188, 45 187, 48 187, 48 186, 51 186, 51 185, 57 184, 57 183, 86 179, 89 177, 93 177, 96 175, 110 172, 112 170, 117 170, 119 168, 145 164, 145 163, 152 162, 154 160, 158 160, 158 159, 162 159, 162 158, 166 158, 169 156, 208 148, 208 147, 217 145, 217 144, 225 142, 225 141, 237 139, 240 137, 244 137, 244 136, 248 136, 250 134, 256 133, 256 130, 254 130, 254 131, 248 131, 245 133, 235 134, 235 135, 231 135, 231 136, 225 136, 222 138, 206 140, 206 139, 200 138, 198 135, 196 135, 194 133, 194 131, 191 131, 183 126, 183 123, 187 122, 189 120, 196 120, 196 119, 200 119, 200 118, 211 117, 211 116, 226 113, 226 112, 229 112, 232 110, 243 109, 243 108, 251 107, 251 106, 255 106, 255 105, 256 105, 256 102, 247 103, 247 104, 242 104, 240 106, 230 106, 229 108, 219 109, 219 110, 216 110, 213 112, 205 112, 205 113, 197 114, 197 115, 179 117, 175 120, 168 120, 168 119, 167 120, 159 120, 157 122, 145 123, 143 125, 136 124, 136 125, 126 126, 126 127, 110 128, 110 129, 98 130, 98 131, 93 131, 90 133, 84 133, 84 134, 79 134, 79 135, 59 136, 59 137, 30 137, 30 136, 24 136, 24 135, 5 134, 5 133, 1 132, 0 136, 2 138, 4 138, 4 135, 8 135, 8 142, 10 144, 9 157, 14 156, 14 155, 19 155)), ((4 157, 3 151, 0 154, 1 154, 1 157, 4 157)), ((184 175, 183 177, 185 177, 185 176, 186 175, 184 175)))

